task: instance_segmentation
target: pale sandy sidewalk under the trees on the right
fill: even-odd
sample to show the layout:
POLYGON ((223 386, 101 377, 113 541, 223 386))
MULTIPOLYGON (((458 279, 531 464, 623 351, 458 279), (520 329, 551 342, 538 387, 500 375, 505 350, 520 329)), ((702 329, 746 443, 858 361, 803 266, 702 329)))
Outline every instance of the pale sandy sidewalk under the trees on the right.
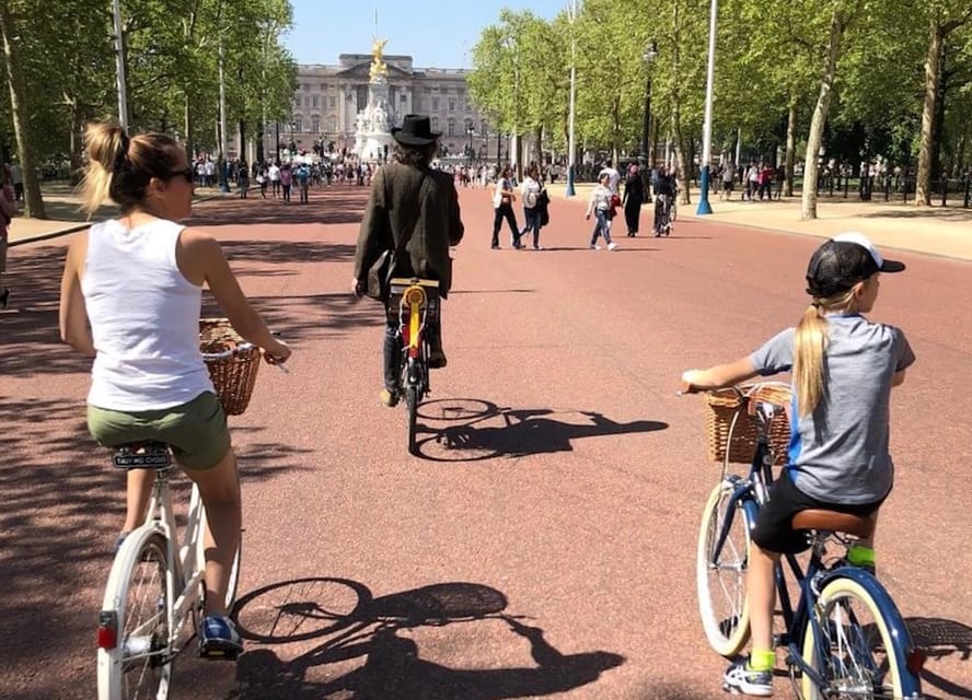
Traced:
MULTIPOLYGON (((576 186, 572 199, 587 205, 593 185, 583 183, 576 186)), ((565 185, 549 187, 555 197, 565 197, 565 185)), ((752 229, 766 229, 785 233, 829 237, 842 231, 860 231, 879 247, 898 248, 913 253, 924 253, 959 260, 972 261, 972 209, 939 205, 918 209, 899 202, 858 201, 852 194, 826 197, 818 200, 817 219, 800 221, 800 197, 782 201, 741 201, 739 192, 731 201, 719 201, 714 194, 709 203, 713 213, 697 217, 698 190, 691 192, 691 205, 679 206, 680 220, 725 223, 752 229)), ((648 214, 650 205, 645 205, 648 214)), ((650 233, 650 232, 649 232, 650 233)))

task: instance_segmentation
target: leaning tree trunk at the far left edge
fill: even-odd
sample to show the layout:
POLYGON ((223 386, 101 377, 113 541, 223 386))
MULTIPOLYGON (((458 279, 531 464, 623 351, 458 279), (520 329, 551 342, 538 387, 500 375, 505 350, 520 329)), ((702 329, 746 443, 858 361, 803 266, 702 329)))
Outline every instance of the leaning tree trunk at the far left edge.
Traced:
POLYGON ((7 59, 7 84, 10 86, 10 112, 13 117, 13 133, 16 139, 16 153, 20 158, 24 178, 24 215, 31 219, 47 219, 40 183, 37 179, 37 164, 31 143, 27 93, 24 90, 24 75, 20 62, 20 35, 12 24, 8 3, 0 3, 0 35, 3 39, 3 56, 7 59))

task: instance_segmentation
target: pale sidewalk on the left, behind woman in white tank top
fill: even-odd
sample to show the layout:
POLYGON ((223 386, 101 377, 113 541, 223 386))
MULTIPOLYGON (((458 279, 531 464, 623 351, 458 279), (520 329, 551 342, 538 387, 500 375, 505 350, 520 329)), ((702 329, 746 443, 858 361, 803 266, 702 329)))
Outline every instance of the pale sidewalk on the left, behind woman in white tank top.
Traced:
MULTIPOLYGON (((81 231, 92 222, 117 215, 118 207, 106 205, 95 211, 90 218, 79 209, 81 198, 73 192, 67 183, 45 183, 42 186, 44 194, 44 209, 48 219, 27 219, 23 214, 14 217, 10 223, 10 246, 23 245, 33 241, 44 241, 62 236, 74 231, 81 231)), ((196 189, 195 202, 207 201, 223 196, 217 188, 196 189)), ((23 209, 23 202, 20 205, 23 209)))

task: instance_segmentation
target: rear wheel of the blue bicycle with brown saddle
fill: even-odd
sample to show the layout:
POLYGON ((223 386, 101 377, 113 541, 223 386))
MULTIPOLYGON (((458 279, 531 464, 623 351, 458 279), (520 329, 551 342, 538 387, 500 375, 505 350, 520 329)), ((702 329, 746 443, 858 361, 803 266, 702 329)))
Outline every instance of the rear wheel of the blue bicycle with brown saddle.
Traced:
POLYGON ((813 625, 808 622, 803 632, 803 662, 820 674, 828 686, 819 688, 805 673, 801 680, 803 700, 904 697, 901 668, 898 655, 893 653, 895 641, 880 606, 864 585, 848 578, 833 579, 820 592, 813 610, 819 629, 833 637, 822 640, 829 642, 832 652, 826 664, 817 657, 819 645, 813 625), (850 607, 855 600, 859 605, 850 607), (831 619, 833 612, 838 619, 831 619), (861 625, 861 619, 872 622, 861 625), (888 653, 889 650, 892 653, 888 653))

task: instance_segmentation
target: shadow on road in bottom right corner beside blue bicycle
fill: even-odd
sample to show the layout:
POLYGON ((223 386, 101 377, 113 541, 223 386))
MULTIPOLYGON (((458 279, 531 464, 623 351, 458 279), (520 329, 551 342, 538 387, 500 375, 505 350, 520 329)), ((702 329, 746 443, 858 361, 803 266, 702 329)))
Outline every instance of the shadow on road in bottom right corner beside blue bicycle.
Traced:
POLYGON ((915 646, 928 655, 922 670, 922 690, 926 700, 972 698, 972 688, 960 686, 936 673, 935 663, 968 662, 972 658, 972 627, 964 622, 939 617, 909 617, 904 619, 915 646), (950 658, 950 657, 957 658, 950 658), (931 690, 941 695, 933 695, 931 690))

